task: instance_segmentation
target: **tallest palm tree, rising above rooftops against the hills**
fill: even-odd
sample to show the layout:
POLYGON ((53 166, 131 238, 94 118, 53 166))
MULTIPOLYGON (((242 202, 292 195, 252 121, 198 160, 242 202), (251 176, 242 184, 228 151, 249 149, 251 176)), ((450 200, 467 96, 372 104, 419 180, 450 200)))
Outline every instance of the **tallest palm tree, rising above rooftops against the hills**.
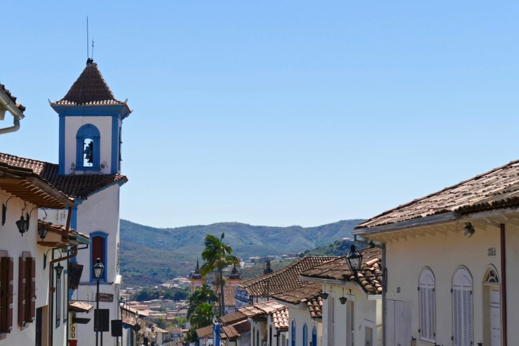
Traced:
POLYGON ((203 244, 206 246, 202 251, 202 259, 206 261, 200 268, 202 276, 206 276, 213 270, 217 271, 218 282, 220 283, 220 316, 225 315, 224 297, 224 277, 223 269, 230 264, 237 264, 238 259, 233 256, 233 249, 223 242, 225 234, 222 233, 220 239, 212 234, 206 235, 203 244))

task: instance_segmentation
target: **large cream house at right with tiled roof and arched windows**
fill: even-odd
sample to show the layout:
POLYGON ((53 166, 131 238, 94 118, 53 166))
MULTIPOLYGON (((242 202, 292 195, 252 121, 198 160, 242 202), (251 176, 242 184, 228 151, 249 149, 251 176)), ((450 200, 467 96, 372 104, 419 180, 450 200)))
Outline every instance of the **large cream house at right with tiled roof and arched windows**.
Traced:
POLYGON ((353 234, 385 251, 386 345, 519 345, 519 161, 385 211, 353 234))

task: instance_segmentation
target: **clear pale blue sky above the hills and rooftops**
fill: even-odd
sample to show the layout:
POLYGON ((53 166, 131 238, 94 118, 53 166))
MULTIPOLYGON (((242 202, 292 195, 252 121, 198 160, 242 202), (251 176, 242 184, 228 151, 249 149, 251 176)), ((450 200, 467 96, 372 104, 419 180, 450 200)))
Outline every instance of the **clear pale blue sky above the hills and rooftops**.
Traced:
POLYGON ((47 99, 84 69, 88 15, 134 110, 134 222, 368 218, 519 158, 518 2, 23 3, 3 4, 0 82, 26 117, 0 151, 58 161, 47 99))

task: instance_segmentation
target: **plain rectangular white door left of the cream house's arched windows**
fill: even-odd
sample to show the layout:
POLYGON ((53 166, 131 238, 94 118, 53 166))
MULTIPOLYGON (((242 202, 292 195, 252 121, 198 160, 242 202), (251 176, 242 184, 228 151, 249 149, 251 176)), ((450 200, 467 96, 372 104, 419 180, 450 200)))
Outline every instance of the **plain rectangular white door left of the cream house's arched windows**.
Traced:
POLYGON ((387 300, 387 345, 411 346, 411 304, 387 300))

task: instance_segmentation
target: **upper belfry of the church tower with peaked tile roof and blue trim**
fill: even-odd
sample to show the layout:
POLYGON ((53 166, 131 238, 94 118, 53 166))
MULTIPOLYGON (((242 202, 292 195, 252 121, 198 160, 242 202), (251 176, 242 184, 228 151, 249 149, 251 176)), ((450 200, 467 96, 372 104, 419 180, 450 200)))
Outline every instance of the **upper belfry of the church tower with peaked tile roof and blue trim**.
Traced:
POLYGON ((59 175, 120 174, 122 121, 131 113, 126 102, 114 97, 89 58, 69 92, 50 102, 60 119, 59 175))

